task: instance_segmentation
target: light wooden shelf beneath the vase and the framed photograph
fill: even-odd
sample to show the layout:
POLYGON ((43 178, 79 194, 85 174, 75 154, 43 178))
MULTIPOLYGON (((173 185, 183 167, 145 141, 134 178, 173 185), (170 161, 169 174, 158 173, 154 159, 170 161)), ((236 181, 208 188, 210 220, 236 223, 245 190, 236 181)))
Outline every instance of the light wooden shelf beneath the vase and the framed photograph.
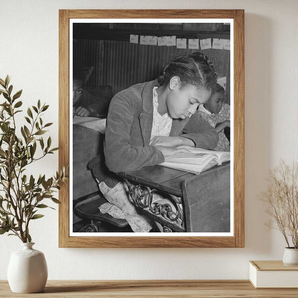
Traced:
POLYGON ((297 298, 298 289, 255 289, 249 280, 49 280, 42 293, 16 294, 0 281, 0 297, 297 298))

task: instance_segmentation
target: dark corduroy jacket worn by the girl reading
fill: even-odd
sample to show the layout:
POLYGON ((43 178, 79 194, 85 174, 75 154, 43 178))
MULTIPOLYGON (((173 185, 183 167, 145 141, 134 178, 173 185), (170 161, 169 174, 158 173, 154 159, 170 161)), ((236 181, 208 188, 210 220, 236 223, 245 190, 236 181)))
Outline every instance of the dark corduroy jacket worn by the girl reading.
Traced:
MULTIPOLYGON (((107 167, 114 173, 164 162, 162 152, 149 145, 154 86, 159 86, 157 80, 136 84, 120 91, 111 100, 104 154, 107 167)), ((214 149, 218 143, 218 133, 198 113, 186 119, 173 119, 170 136, 192 139, 196 148, 214 149)))

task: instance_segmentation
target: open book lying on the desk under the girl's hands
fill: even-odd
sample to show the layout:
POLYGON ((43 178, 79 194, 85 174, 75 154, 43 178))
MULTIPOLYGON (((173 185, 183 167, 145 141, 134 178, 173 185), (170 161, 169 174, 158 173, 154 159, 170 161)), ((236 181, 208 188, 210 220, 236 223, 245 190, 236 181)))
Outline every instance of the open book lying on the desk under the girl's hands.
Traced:
POLYGON ((170 167, 181 171, 199 174, 214 165, 221 165, 230 160, 230 152, 216 151, 195 148, 189 150, 189 153, 177 153, 168 156, 164 162, 159 164, 164 167, 170 167))

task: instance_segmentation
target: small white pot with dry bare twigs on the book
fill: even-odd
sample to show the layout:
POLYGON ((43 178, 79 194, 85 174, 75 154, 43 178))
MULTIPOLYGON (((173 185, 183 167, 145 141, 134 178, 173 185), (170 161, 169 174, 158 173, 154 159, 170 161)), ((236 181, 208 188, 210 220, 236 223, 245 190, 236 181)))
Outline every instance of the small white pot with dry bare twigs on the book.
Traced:
POLYGON ((282 161, 266 180, 269 184, 261 199, 273 217, 266 226, 280 230, 285 238, 284 265, 298 266, 298 163, 291 167, 282 161))

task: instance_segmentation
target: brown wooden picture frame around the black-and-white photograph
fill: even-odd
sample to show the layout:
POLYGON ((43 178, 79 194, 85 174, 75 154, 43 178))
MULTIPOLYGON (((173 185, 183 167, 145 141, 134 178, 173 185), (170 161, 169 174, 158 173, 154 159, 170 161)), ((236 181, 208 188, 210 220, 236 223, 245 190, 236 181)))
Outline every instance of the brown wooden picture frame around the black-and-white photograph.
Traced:
POLYGON ((59 247, 244 247, 244 10, 59 10, 59 168, 69 164, 69 19, 72 18, 234 20, 234 235, 71 237, 67 183, 59 191, 59 247))

